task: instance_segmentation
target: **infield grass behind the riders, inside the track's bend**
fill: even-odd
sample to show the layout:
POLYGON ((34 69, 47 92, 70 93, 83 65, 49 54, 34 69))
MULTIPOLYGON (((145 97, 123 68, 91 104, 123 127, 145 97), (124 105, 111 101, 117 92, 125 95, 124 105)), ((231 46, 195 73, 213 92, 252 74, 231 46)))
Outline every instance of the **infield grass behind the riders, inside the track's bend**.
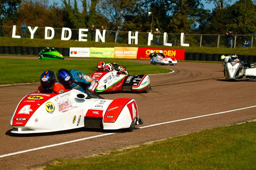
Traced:
MULTIPOLYGON (((126 67, 130 75, 168 73, 165 69, 156 65, 140 64, 124 60, 99 59, 105 63, 117 62, 126 67)), ((99 60, 29 60, 29 59, 0 59, 0 85, 17 83, 35 83, 40 81, 40 75, 45 70, 56 72, 61 69, 77 69, 87 75, 96 71, 99 60)))

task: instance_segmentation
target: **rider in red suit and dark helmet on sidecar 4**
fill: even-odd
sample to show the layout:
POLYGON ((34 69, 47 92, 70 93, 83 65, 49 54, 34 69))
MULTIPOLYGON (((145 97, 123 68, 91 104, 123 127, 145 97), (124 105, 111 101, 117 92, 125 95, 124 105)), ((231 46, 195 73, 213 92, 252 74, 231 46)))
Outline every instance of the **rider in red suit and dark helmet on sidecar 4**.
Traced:
POLYGON ((42 73, 40 84, 37 90, 38 93, 63 93, 65 89, 62 84, 56 82, 55 74, 50 70, 42 73))

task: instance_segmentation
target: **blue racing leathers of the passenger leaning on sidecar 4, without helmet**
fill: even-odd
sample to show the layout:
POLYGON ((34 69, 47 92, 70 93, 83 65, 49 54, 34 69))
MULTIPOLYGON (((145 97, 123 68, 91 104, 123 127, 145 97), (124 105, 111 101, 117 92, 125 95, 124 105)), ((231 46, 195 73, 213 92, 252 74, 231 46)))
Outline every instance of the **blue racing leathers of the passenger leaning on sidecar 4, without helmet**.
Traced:
POLYGON ((95 92, 96 87, 98 86, 97 80, 78 70, 70 70, 70 73, 74 78, 74 84, 72 86, 72 89, 76 89, 83 93, 86 93, 91 98, 103 99, 95 92))

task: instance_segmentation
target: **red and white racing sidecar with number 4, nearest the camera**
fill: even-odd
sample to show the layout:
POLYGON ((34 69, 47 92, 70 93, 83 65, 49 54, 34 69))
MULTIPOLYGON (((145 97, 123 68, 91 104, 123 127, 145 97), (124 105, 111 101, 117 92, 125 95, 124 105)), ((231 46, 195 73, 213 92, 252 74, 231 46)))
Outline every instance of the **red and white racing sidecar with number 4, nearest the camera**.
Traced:
POLYGON ((81 127, 133 131, 143 124, 134 99, 88 99, 78 90, 61 94, 30 93, 18 104, 11 121, 18 134, 63 131, 81 127))

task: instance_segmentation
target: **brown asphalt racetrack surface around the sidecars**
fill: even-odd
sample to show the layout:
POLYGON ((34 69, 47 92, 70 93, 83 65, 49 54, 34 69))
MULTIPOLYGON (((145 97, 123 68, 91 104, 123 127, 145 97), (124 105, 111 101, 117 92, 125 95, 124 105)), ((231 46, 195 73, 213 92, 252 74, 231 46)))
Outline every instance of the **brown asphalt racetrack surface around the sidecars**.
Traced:
MULTIPOLYGON (((148 63, 149 61, 137 61, 148 63)), ((149 93, 102 94, 106 99, 134 98, 146 125, 190 118, 205 114, 234 110, 255 105, 256 82, 227 82, 221 64, 182 63, 163 66, 173 69, 171 74, 150 75, 149 93)), ((33 149, 65 141, 109 133, 99 130, 77 129, 39 135, 15 136, 9 124, 19 101, 36 91, 38 84, 0 86, 1 128, 0 155, 33 149)), ((184 120, 174 123, 135 129, 78 141, 46 149, 0 158, 0 169, 26 169, 44 165, 55 158, 79 158, 112 149, 184 135, 203 129, 226 126, 256 119, 256 108, 184 120)))

